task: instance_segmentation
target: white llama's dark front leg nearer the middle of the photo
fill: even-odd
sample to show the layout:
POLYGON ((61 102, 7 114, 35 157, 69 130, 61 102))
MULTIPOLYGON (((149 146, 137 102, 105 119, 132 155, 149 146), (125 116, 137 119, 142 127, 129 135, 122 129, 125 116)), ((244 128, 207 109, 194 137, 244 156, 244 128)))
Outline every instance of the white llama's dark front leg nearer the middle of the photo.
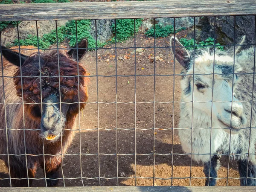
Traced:
MULTIPOLYGON (((207 163, 204 163, 204 175, 206 177, 214 177, 217 178, 217 171, 220 167, 220 160, 219 160, 220 156, 219 155, 213 155, 211 162, 208 161, 207 163), (211 163, 211 164, 210 164, 211 163), (211 165, 211 167, 210 167, 211 165), (210 170, 209 170, 210 169, 210 170)), ((205 182, 205 186, 215 186, 216 185, 216 179, 213 178, 207 178, 206 182, 205 182)))

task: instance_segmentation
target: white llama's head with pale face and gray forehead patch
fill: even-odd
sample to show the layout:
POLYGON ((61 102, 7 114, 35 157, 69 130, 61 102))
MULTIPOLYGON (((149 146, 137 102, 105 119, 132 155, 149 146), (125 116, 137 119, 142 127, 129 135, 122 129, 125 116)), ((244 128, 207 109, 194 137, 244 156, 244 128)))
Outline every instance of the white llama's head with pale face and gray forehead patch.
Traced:
MULTIPOLYGON (((233 68, 234 58, 218 50, 215 50, 215 54, 209 49, 200 49, 189 53, 177 38, 173 37, 170 44, 175 58, 183 66, 181 73, 183 75, 181 79, 182 101, 186 102, 188 111, 192 112, 193 97, 194 116, 200 113, 204 117, 198 114, 198 118, 208 116, 210 119, 212 115, 213 127, 231 128, 232 133, 239 131, 239 128, 245 125, 246 118, 243 105, 232 93, 232 90, 235 90, 233 86, 239 82, 239 77, 236 74, 233 81, 233 71, 237 73, 241 70, 238 64, 235 64, 235 68, 233 68), (215 62, 213 62, 214 60, 215 62), (213 104, 211 102, 212 87, 213 104), (232 99, 233 105, 231 104, 232 99)), ((237 49, 236 52, 239 50, 237 49)), ((195 118, 197 117, 193 119, 195 118)), ((229 129, 225 130, 229 132, 229 129)))

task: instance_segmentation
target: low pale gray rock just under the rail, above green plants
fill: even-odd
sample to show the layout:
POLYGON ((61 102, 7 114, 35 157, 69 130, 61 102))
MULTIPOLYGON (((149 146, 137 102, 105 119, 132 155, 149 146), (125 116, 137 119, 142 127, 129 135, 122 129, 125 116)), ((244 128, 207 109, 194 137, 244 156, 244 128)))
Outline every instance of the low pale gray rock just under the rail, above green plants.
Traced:
MULTIPOLYGON (((157 18, 157 23, 162 23, 163 26, 174 25, 174 18, 163 17, 157 18)), ((199 22, 199 17, 195 17, 195 25, 199 22)), ((194 26, 194 17, 180 17, 175 19, 175 28, 180 29, 181 27, 191 27, 194 26)))

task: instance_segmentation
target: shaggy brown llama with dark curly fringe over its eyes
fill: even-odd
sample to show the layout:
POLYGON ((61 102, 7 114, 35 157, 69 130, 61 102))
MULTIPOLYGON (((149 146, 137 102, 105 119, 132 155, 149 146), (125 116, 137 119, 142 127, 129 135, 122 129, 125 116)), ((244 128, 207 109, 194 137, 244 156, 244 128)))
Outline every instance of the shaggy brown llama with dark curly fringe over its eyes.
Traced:
MULTIPOLYGON (((87 40, 82 40, 78 48, 87 48, 87 40)), ((27 178, 35 177, 38 166, 45 167, 47 186, 57 185, 61 154, 73 140, 72 129, 79 113, 75 102, 82 102, 82 110, 88 100, 87 73, 77 62, 86 50, 47 50, 40 54, 33 50, 27 56, 0 47, 0 74, 4 75, 0 78, 0 158, 10 168, 10 177, 16 178, 12 186, 28 186, 27 178), (60 99, 64 102, 61 107, 60 99)), ((29 185, 31 182, 29 179, 29 185)))

